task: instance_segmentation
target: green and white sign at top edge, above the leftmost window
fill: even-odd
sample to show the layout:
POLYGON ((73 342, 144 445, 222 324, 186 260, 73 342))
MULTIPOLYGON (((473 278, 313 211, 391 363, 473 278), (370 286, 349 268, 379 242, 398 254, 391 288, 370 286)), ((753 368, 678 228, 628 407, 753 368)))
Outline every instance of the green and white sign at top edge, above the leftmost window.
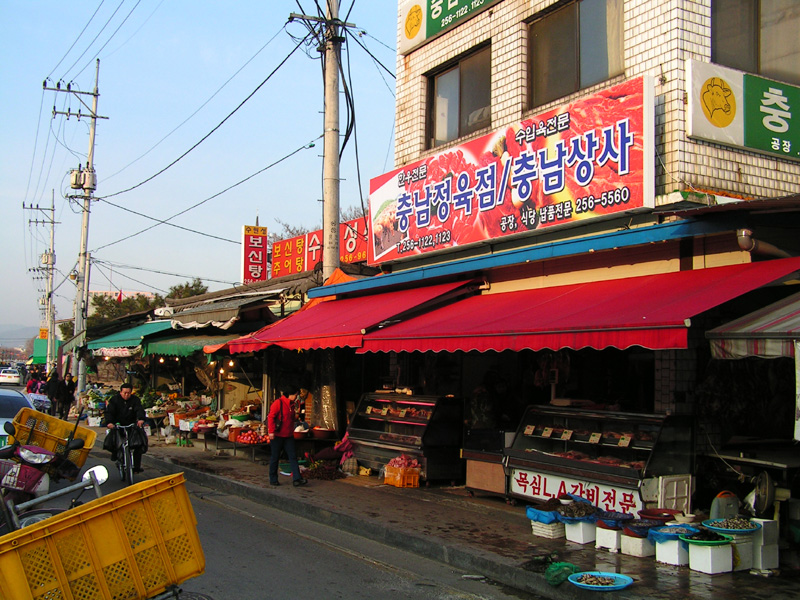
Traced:
POLYGON ((500 0, 401 0, 398 7, 402 31, 397 44, 400 54, 437 37, 483 12, 500 0))

